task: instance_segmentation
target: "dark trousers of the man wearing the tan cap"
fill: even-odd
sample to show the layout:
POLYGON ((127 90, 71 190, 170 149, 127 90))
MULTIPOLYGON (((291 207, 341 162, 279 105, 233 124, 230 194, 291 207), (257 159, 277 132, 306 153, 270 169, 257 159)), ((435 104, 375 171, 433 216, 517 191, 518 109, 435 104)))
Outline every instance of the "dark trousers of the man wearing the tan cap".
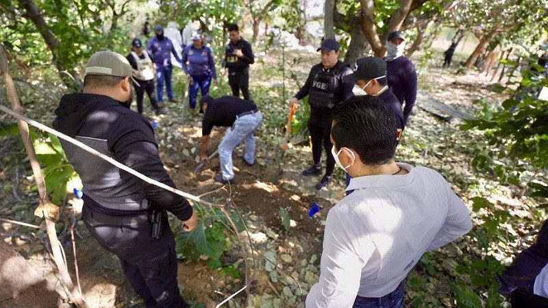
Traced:
POLYGON ((84 205, 82 219, 97 242, 120 259, 125 277, 145 307, 188 307, 177 284, 175 238, 167 219, 158 240, 150 236, 147 215, 108 216, 84 205))

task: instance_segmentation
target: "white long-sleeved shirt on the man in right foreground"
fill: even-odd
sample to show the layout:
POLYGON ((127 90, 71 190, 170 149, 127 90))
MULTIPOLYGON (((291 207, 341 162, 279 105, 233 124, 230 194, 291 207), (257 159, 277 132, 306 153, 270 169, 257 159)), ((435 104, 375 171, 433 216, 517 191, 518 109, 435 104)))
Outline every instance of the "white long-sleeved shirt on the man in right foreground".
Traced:
POLYGON ((436 171, 398 163, 407 175, 350 181, 327 215, 320 281, 306 307, 352 307, 356 295, 393 292, 423 253, 472 229, 469 211, 436 171))

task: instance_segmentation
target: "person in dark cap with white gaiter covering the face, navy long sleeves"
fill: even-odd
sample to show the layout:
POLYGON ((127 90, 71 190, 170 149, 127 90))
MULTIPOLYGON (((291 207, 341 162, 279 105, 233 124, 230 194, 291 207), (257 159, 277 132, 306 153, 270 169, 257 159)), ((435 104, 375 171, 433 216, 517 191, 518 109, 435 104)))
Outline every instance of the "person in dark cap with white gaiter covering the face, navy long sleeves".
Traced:
POLYGON ((386 77, 399 103, 403 107, 403 123, 412 114, 416 100, 416 71, 411 60, 403 55, 405 37, 401 31, 388 34, 386 40, 386 77), (405 103, 405 106, 403 104, 405 103))

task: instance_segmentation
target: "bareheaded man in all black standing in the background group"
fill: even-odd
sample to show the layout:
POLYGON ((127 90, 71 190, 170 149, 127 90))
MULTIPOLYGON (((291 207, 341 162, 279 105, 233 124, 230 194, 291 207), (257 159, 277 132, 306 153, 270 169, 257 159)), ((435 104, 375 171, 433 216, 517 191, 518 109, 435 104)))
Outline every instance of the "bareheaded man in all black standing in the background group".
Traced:
POLYGON ((230 42, 225 48, 225 59, 221 75, 228 68, 228 84, 232 88, 234 97, 240 96, 240 89, 244 99, 249 100, 249 64, 253 64, 253 50, 251 44, 240 36, 238 25, 230 24, 227 27, 230 42))

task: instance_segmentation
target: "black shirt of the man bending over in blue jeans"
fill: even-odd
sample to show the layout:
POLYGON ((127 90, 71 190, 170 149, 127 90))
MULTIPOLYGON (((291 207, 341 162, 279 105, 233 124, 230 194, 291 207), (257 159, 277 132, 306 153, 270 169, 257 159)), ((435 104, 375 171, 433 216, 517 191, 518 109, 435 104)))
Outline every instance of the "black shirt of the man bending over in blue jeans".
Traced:
POLYGON ((214 126, 232 126, 238 114, 253 110, 257 110, 257 106, 252 101, 239 97, 219 97, 208 104, 201 122, 201 134, 209 136, 214 126))

